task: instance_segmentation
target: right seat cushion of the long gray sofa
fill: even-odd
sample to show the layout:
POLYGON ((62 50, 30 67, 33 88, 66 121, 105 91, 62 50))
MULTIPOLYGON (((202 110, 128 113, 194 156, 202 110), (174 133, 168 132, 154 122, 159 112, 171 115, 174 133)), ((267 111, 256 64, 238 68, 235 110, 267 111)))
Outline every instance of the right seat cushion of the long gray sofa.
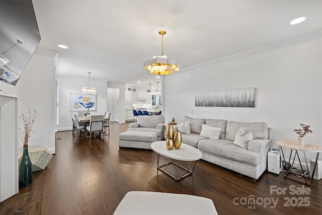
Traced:
MULTIPOLYGON (((258 166, 261 163, 259 153, 236 146, 227 139, 204 139, 198 143, 198 149, 219 157, 258 166)), ((266 161, 265 161, 266 162, 266 161)))

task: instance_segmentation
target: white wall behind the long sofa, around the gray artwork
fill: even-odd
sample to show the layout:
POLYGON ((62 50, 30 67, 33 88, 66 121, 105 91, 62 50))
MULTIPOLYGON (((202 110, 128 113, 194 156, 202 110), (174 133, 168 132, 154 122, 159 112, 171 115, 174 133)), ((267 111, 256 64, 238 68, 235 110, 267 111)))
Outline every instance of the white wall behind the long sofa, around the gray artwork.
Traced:
MULTIPOLYGON (((267 122, 273 142, 297 141, 299 123, 311 125, 306 142, 322 146, 321 39, 179 71, 165 78, 165 121, 195 118, 267 122), (195 92, 256 88, 256 108, 195 107, 195 92), (191 113, 193 111, 193 113, 191 113)), ((306 155, 307 159, 315 154, 306 155)))

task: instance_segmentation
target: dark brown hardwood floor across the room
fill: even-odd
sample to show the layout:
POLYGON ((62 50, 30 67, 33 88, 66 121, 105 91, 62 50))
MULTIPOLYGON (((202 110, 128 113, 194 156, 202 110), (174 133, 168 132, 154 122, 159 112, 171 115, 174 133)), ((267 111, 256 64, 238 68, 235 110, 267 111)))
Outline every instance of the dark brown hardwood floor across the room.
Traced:
POLYGON ((200 160, 192 176, 176 182, 157 171, 153 151, 119 149, 118 134, 127 128, 111 123, 111 135, 91 144, 75 142, 71 131, 57 132, 56 154, 46 169, 1 202, 0 214, 112 214, 131 190, 204 196, 218 214, 322 214, 322 180, 302 186, 265 172, 254 182, 200 160))

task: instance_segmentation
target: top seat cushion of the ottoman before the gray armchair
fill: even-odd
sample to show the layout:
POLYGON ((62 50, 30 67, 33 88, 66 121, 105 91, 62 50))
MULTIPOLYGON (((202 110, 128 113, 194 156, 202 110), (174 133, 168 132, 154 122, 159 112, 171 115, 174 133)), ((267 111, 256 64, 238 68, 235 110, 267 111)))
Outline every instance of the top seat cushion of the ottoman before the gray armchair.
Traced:
POLYGON ((154 142, 157 140, 157 133, 127 130, 119 134, 119 140, 154 142))

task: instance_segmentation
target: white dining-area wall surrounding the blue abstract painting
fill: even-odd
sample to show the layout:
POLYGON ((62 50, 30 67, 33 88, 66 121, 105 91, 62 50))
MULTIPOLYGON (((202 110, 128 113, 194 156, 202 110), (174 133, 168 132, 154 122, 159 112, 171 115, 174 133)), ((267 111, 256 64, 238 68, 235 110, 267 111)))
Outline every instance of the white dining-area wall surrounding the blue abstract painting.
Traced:
MULTIPOLYGON (((70 112, 70 93, 82 94, 82 88, 88 87, 88 78, 75 78, 66 76, 57 76, 57 83, 59 85, 59 124, 57 131, 71 130, 72 121, 71 113, 76 115, 77 112, 70 112)), ((96 111, 90 111, 92 115, 104 114, 106 112, 106 85, 105 80, 95 80, 91 78, 91 87, 96 88, 96 111)))

